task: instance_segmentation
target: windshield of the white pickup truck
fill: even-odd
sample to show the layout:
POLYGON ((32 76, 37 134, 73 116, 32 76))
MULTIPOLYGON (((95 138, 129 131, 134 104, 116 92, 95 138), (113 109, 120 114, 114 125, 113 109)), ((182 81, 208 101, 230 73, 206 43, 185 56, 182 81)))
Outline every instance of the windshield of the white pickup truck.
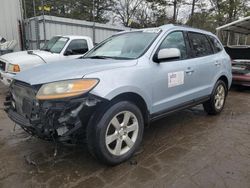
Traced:
POLYGON ((41 48, 41 50, 59 54, 68 40, 69 38, 66 37, 53 37, 41 48))

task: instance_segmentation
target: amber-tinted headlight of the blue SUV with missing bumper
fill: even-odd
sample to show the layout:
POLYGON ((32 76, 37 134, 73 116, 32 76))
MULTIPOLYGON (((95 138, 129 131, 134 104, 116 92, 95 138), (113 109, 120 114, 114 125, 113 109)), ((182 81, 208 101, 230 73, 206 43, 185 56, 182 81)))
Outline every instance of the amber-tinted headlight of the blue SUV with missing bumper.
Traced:
POLYGON ((38 91, 39 100, 61 99, 84 94, 93 89, 97 79, 66 80, 44 84, 38 91))

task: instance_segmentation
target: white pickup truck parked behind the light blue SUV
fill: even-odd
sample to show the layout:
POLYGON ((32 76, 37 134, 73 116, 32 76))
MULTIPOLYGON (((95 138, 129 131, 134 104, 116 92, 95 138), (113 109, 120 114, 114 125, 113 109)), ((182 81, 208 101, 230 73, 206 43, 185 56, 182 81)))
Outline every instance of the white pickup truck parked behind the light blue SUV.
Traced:
POLYGON ((60 63, 76 59, 93 48, 87 36, 55 36, 40 50, 20 51, 0 56, 0 80, 10 85, 13 77, 24 71, 46 63, 60 63))

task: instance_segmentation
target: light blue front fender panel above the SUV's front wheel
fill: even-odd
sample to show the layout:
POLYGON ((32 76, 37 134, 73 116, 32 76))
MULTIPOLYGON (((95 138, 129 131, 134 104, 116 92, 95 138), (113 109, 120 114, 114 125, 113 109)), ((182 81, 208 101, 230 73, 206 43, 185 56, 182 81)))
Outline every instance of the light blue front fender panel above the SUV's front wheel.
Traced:
POLYGON ((112 100, 116 96, 131 92, 140 95, 150 111, 152 106, 152 84, 150 69, 138 64, 86 75, 84 78, 98 78, 100 82, 91 94, 112 100))

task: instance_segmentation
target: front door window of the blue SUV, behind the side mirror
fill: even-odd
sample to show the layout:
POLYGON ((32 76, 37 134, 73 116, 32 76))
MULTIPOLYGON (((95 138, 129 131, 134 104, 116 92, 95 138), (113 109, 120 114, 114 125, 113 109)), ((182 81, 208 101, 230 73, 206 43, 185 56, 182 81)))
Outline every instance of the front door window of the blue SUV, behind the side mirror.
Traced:
POLYGON ((181 51, 181 59, 187 58, 187 49, 181 31, 170 33, 160 45, 160 49, 164 48, 178 48, 181 51))

